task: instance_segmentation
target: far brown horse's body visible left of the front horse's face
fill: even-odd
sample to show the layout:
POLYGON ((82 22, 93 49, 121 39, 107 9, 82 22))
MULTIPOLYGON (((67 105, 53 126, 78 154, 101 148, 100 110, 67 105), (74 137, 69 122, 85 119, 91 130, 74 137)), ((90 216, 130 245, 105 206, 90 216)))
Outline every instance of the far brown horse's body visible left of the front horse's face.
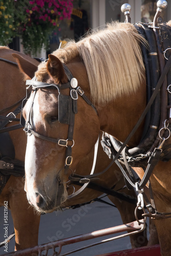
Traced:
MULTIPOLYGON (((11 60, 15 62, 12 54, 15 51, 6 47, 0 48, 1 58, 11 60)), ((27 69, 37 69, 38 61, 32 59, 24 54, 18 53, 28 60, 29 66, 27 69)), ((1 74, 0 74, 0 86, 1 86, 1 102, 0 110, 6 109, 12 106, 17 101, 21 100, 26 95, 24 76, 20 73, 16 65, 11 63, 0 61, 1 74)), ((34 73, 33 73, 34 74, 34 73)), ((28 77, 32 77, 32 75, 28 77)), ((19 105, 19 104, 18 104, 19 105)), ((4 113, 7 115, 14 111, 16 106, 4 113)), ((11 122, 9 125, 16 124, 11 122)), ((8 125, 8 126, 9 126, 8 125)), ((26 136, 22 131, 23 129, 9 132, 10 137, 15 148, 15 159, 24 161, 25 148, 26 148, 26 136)), ((38 243, 38 227, 39 219, 38 215, 34 214, 34 211, 26 199, 24 192, 24 180, 22 177, 10 176, 5 188, 0 195, 0 205, 4 206, 4 202, 8 201, 8 207, 11 210, 14 229, 15 229, 15 249, 27 248, 29 246, 37 245, 38 243), (32 234, 30 236, 30 234, 32 234)), ((1 241, 2 242, 2 241, 1 241)))

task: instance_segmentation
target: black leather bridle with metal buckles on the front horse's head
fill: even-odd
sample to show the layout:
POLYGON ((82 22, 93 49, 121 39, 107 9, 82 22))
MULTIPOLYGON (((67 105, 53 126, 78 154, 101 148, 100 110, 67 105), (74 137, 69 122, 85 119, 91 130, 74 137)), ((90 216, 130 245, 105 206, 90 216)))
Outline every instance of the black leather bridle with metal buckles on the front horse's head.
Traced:
MULTIPOLYGON (((25 122, 25 128, 24 131, 26 132, 27 136, 34 135, 40 139, 44 139, 53 143, 58 144, 59 146, 65 146, 66 147, 66 160, 65 160, 65 174, 68 173, 69 166, 72 164, 73 157, 72 157, 72 147, 74 146, 74 140, 73 140, 73 132, 74 132, 74 120, 75 120, 75 114, 77 114, 77 99, 78 94, 89 104, 92 106, 93 110, 97 114, 97 110, 95 106, 92 104, 92 102, 87 98, 86 95, 84 95, 84 91, 78 86, 78 81, 76 78, 73 77, 70 70, 66 65, 63 64, 63 68, 65 69, 66 75, 68 77, 68 82, 63 84, 55 84, 55 83, 45 83, 40 82, 36 80, 36 77, 33 77, 31 80, 26 80, 27 90, 32 86, 32 99, 29 106, 29 112, 27 114, 27 119, 25 122), (33 110, 33 102, 36 95, 36 92, 38 89, 42 88, 48 88, 48 87, 54 87, 58 91, 58 121, 59 123, 68 124, 68 138, 67 139, 55 139, 51 137, 47 137, 44 135, 41 135, 33 130, 32 125, 32 110, 33 110), (61 91, 64 89, 70 89, 70 95, 63 95, 61 94, 61 91)), ((26 94, 27 95, 27 94, 26 94)), ((27 99, 27 96, 25 100, 27 99)), ((95 162, 97 157, 97 148, 98 148, 98 141, 95 145, 95 154, 94 154, 94 162, 93 167, 91 170, 91 175, 94 173, 95 169, 95 162)), ((90 180, 89 180, 90 181, 90 180)), ((79 193, 89 184, 89 181, 80 181, 80 183, 84 183, 84 185, 78 190, 79 193)), ((76 196, 78 193, 73 193, 68 198, 71 198, 73 196, 76 196)))

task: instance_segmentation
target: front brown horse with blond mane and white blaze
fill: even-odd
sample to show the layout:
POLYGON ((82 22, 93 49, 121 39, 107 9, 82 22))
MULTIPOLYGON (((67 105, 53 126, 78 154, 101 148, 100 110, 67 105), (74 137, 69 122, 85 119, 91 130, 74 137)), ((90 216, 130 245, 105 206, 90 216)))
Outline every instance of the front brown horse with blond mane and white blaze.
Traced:
MULTIPOLYGON (((66 182, 92 150, 100 130, 122 142, 133 130, 146 106, 140 42, 146 44, 132 24, 109 24, 106 29, 50 54, 48 61, 39 65, 34 80, 28 81, 33 91, 23 110, 25 131, 29 135, 25 190, 36 210, 49 212, 67 202, 66 182), (71 87, 67 70, 74 78, 70 79, 71 87), (74 125, 71 118, 63 118, 69 115, 69 98, 74 101, 74 125), (72 153, 67 150, 71 147, 72 153), (47 166, 51 151, 56 154, 47 166)), ((144 121, 127 142, 128 146, 138 145, 143 126, 144 121)), ((150 178, 159 212, 171 211, 169 163, 159 161, 150 178)), ((142 178, 143 169, 135 169, 142 178)), ((161 254, 170 255, 171 221, 155 220, 155 224, 161 254)))

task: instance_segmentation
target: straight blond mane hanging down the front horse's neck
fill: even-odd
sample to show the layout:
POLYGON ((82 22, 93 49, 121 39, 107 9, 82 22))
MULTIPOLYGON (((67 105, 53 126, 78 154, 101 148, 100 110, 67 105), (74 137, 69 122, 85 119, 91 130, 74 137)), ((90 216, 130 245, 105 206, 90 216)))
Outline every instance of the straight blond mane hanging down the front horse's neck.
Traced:
MULTIPOLYGON (((136 92, 140 86, 145 72, 140 41, 144 39, 134 25, 111 23, 77 43, 69 42, 53 54, 65 63, 80 56, 86 66, 91 99, 104 105, 116 97, 136 92)), ((45 67, 39 68, 36 75, 44 72, 45 67)))

